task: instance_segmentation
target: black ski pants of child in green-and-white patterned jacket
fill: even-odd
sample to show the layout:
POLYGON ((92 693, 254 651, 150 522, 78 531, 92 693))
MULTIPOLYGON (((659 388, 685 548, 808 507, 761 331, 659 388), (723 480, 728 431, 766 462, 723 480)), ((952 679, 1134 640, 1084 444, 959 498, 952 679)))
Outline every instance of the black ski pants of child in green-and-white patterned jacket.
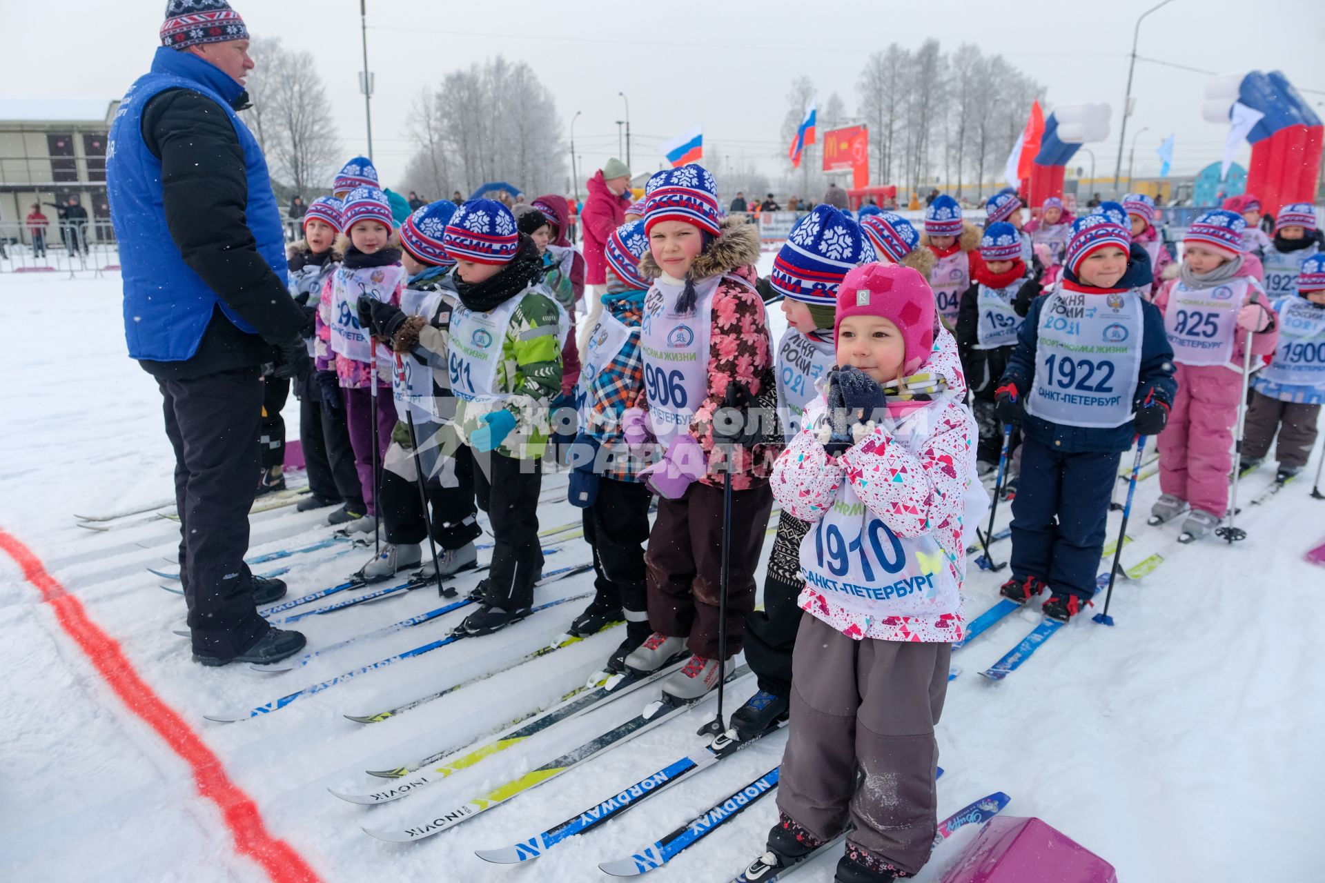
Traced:
POLYGON ((474 453, 478 508, 493 528, 493 564, 484 604, 507 612, 533 604, 534 582, 543 571, 538 541, 538 494, 543 461, 514 459, 497 451, 474 453))

